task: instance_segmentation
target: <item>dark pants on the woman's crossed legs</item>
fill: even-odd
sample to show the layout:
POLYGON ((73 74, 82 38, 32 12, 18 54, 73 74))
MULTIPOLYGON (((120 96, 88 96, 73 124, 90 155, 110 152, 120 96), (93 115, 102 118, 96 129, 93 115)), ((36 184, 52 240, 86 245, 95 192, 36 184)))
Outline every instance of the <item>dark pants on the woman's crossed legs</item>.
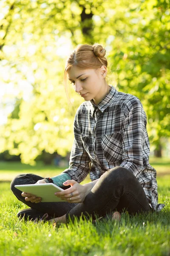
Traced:
POLYGON ((124 167, 115 167, 105 172, 85 197, 85 200, 79 204, 26 202, 25 198, 21 196, 21 191, 14 187, 14 185, 20 184, 34 184, 41 179, 43 177, 34 174, 17 175, 11 182, 11 190, 24 204, 42 213, 47 212, 48 215, 55 218, 66 214, 68 220, 69 215, 71 219, 74 219, 74 215, 79 218, 83 214, 87 218, 91 215, 95 219, 96 215, 102 217, 115 210, 122 212, 125 209, 130 215, 150 211, 142 185, 132 172, 124 167))

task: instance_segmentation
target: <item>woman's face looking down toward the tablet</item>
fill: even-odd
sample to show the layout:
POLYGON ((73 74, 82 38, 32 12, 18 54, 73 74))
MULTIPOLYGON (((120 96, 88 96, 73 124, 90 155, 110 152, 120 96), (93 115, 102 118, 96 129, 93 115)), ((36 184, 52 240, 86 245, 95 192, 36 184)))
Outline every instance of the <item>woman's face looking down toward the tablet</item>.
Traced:
MULTIPOLYGON (((108 89, 106 84, 105 74, 106 67, 102 66, 99 69, 80 69, 77 66, 71 67, 68 71, 68 79, 74 86, 74 90, 81 95, 85 101, 94 99, 98 104, 103 98, 103 94, 108 89), (104 76, 102 76, 104 74, 104 76)), ((105 96, 105 95, 104 95, 105 96)))

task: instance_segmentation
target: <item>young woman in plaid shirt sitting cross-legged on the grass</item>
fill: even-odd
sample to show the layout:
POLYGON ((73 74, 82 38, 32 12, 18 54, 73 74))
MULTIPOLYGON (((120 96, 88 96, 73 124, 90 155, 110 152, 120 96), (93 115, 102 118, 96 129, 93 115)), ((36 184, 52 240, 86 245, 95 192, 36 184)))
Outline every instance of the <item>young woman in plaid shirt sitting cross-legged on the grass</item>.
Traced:
MULTIPOLYGON (((149 164, 150 145, 146 115, 140 100, 118 92, 106 81, 108 61, 101 45, 81 45, 65 66, 68 79, 83 102, 74 119, 74 143, 69 168, 61 175, 43 178, 18 175, 11 190, 30 209, 19 217, 34 220, 48 213, 48 220, 67 222, 87 218, 159 210, 156 170, 149 164), (90 172, 91 182, 79 183, 90 172), (64 188, 57 196, 68 202, 41 203, 41 198, 20 192, 14 185, 53 182, 64 188), (116 212, 117 211, 117 212, 116 212), (115 213, 116 212, 116 213, 115 213)), ((66 90, 67 92, 67 90, 66 90)))

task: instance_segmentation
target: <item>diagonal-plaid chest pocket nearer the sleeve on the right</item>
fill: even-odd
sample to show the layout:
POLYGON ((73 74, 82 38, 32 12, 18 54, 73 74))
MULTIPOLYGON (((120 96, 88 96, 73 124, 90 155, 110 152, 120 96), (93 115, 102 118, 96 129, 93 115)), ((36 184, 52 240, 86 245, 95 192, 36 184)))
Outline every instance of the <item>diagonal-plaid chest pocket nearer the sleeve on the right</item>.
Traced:
POLYGON ((122 134, 114 132, 113 134, 102 135, 102 151, 108 162, 122 160, 122 134))

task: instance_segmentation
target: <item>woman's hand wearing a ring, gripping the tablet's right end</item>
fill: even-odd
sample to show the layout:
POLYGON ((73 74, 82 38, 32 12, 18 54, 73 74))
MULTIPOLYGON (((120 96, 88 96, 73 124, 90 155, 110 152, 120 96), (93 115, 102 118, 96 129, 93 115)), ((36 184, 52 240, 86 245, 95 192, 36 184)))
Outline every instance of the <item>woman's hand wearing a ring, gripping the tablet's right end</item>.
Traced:
POLYGON ((71 185, 71 188, 55 193, 55 195, 60 197, 62 200, 67 200, 69 203, 82 203, 85 200, 87 195, 85 186, 80 185, 75 180, 67 180, 63 185, 71 185))

